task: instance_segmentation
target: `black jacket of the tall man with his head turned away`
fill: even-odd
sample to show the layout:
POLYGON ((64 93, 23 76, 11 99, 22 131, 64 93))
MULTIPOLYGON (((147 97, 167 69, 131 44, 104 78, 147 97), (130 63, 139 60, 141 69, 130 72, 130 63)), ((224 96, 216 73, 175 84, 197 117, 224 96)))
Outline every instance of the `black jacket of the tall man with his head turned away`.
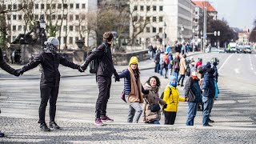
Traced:
POLYGON ((110 50, 110 44, 104 42, 104 44, 98 46, 96 50, 94 50, 87 58, 85 65, 88 66, 89 63, 94 60, 94 58, 99 58, 99 66, 97 70, 97 76, 102 77, 111 77, 113 74, 117 75, 117 71, 114 69, 112 53, 110 50))

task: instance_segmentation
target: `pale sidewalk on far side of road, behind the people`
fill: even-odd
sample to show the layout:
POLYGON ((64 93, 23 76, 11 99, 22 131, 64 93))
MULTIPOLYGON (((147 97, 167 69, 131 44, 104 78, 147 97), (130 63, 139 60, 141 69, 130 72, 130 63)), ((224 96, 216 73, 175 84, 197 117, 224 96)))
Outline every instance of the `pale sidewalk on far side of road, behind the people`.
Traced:
MULTIPOLYGON (((187 57, 190 57, 191 55, 195 55, 195 54, 202 54, 202 53, 190 52, 189 54, 187 54, 187 57)), ((10 65, 10 66, 12 66, 14 69, 22 68, 22 66, 18 66, 18 65, 10 65)), ((138 62, 138 67, 140 70, 154 69, 154 66, 155 66, 154 60, 146 60, 146 61, 138 62)), ((114 66, 114 68, 118 72, 121 72, 122 70, 125 70, 127 66, 114 66)), ((41 77, 41 72, 39 71, 39 69, 40 69, 40 66, 37 66, 32 70, 26 71, 26 73, 24 73, 18 78, 15 77, 14 75, 8 74, 4 70, 0 70, 0 79, 5 79, 5 80, 7 79, 10 79, 10 80, 11 79, 38 79, 41 77)), ((70 69, 69 67, 62 66, 62 65, 59 66, 59 72, 62 78, 94 75, 94 74, 90 74, 88 70, 86 70, 85 73, 80 73, 78 72, 78 70, 73 70, 73 69, 70 69)))

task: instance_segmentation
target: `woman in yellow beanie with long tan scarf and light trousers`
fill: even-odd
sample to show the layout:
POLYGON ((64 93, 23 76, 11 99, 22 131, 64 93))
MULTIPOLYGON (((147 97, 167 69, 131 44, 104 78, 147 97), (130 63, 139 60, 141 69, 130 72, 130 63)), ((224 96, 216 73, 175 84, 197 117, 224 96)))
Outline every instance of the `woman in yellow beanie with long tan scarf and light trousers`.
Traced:
POLYGON ((138 70, 138 58, 131 57, 129 67, 118 74, 119 78, 124 78, 124 94, 126 102, 129 103, 129 112, 127 122, 138 123, 142 115, 143 94, 149 94, 149 90, 144 90, 141 84, 140 73, 138 70))

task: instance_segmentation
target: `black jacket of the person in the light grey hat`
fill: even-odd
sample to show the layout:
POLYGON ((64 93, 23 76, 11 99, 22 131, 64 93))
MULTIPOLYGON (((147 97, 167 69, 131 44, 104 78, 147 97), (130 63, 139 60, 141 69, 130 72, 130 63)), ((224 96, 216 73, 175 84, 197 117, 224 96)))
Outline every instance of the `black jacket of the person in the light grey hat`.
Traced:
POLYGON ((42 75, 40 86, 59 86, 61 74, 59 74, 58 66, 62 64, 73 69, 78 69, 78 65, 66 60, 60 54, 51 54, 42 52, 33 61, 22 67, 22 70, 27 71, 34 69, 39 64, 42 65, 42 75))

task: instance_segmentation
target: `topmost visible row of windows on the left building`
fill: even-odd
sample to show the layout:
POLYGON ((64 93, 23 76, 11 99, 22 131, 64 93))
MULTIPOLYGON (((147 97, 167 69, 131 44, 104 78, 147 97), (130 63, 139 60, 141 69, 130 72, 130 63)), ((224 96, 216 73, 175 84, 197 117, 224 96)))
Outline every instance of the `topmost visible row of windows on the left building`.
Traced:
MULTIPOLYGON (((27 7, 27 5, 22 5, 22 4, 13 4, 13 5, 0 5, 0 10, 6 10, 6 6, 7 6, 7 8, 8 8, 8 10, 17 10, 17 9, 21 9, 22 8, 22 6, 23 7, 27 7)), ((64 4, 62 4, 62 3, 53 3, 53 4, 34 4, 34 9, 39 9, 39 6, 40 6, 40 8, 41 8, 41 10, 44 10, 45 8, 48 10, 48 9, 56 9, 56 8, 58 8, 58 9, 62 9, 62 7, 64 8, 64 9, 67 9, 67 8, 69 8, 69 9, 74 9, 74 7, 75 7, 75 9, 80 9, 80 8, 82 8, 82 9, 86 9, 86 4, 85 3, 70 3, 70 4, 67 4, 67 3, 64 3, 64 4)))

